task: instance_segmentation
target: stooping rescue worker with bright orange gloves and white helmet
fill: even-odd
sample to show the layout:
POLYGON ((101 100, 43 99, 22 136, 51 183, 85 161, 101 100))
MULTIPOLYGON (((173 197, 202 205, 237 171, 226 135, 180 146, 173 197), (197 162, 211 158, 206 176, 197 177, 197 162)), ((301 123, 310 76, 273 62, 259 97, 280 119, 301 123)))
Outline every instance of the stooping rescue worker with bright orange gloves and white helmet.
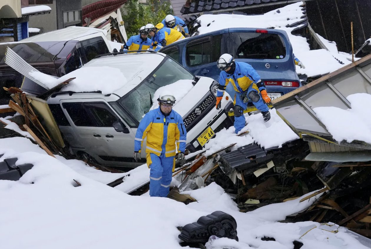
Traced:
POLYGON ((246 62, 235 62, 233 56, 227 53, 220 56, 217 67, 221 72, 216 95, 216 109, 221 107, 220 101, 223 99, 226 86, 231 83, 235 91, 233 104, 236 134, 245 126, 246 119, 243 111, 249 99, 262 112, 264 122, 268 121, 270 113, 267 104, 270 104, 270 98, 264 82, 260 80, 255 69, 246 62))

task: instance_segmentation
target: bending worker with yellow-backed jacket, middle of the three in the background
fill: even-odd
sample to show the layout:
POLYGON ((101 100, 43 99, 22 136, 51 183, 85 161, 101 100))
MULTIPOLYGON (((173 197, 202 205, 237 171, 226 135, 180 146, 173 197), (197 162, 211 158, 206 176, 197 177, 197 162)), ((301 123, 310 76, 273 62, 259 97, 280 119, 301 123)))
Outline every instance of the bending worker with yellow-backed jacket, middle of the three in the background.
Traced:
POLYGON ((178 30, 164 27, 164 24, 162 23, 158 23, 156 26, 148 23, 145 26, 145 30, 148 31, 148 35, 152 37, 153 47, 156 47, 157 45, 161 45, 162 47, 164 47, 177 40, 185 38, 178 30))

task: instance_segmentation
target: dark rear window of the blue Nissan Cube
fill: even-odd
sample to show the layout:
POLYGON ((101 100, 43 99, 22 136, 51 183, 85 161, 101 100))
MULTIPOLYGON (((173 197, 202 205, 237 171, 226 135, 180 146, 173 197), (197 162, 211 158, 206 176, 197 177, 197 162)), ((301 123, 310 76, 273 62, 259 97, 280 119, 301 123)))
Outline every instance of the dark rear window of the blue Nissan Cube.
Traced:
POLYGON ((282 37, 270 33, 229 33, 231 53, 238 59, 283 59, 286 46, 282 37))

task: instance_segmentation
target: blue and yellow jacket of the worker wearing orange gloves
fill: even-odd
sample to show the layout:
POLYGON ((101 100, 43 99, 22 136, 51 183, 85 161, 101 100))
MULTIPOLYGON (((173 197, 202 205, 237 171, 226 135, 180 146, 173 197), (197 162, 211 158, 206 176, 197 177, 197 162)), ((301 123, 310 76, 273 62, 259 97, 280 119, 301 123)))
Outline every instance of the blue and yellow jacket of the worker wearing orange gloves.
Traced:
POLYGON ((244 92, 253 84, 252 88, 258 93, 262 90, 266 90, 265 85, 260 80, 259 74, 253 69, 253 67, 246 62, 235 62, 236 69, 232 75, 226 71, 220 72, 219 86, 216 96, 221 97, 224 94, 226 86, 230 82, 233 85, 234 91, 244 92), (258 85, 258 86, 257 86, 258 85))

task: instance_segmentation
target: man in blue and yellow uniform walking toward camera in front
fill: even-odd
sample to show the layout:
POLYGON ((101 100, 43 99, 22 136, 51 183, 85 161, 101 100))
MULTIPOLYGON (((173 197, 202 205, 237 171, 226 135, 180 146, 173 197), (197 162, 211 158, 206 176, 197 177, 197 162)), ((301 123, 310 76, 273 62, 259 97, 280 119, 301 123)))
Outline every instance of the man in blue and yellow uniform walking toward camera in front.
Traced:
POLYGON ((147 137, 145 150, 150 170, 150 196, 167 197, 175 168, 175 143, 177 159, 185 163, 184 150, 187 131, 182 117, 172 110, 176 101, 170 93, 163 93, 157 99, 159 107, 147 112, 135 134, 134 159, 141 159, 143 140, 147 137))

